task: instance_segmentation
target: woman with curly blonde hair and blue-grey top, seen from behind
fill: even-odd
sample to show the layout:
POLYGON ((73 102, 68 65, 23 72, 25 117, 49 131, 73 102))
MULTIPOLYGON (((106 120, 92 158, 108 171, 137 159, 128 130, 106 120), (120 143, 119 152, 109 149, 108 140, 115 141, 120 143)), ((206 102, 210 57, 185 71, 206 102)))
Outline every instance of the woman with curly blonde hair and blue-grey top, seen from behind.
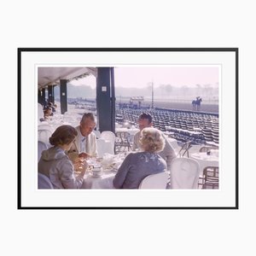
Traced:
POLYGON ((166 161, 158 152, 165 146, 160 131, 148 127, 141 131, 139 140, 142 152, 128 154, 113 179, 116 189, 138 189, 143 178, 166 171, 166 161))

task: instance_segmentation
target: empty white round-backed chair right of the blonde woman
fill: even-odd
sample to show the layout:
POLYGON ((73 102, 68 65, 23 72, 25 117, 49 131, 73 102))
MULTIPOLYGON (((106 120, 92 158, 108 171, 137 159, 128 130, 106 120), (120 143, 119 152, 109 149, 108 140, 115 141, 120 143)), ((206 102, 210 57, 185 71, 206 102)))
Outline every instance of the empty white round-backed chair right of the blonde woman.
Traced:
POLYGON ((200 166, 190 158, 172 160, 170 172, 171 189, 198 189, 200 166))

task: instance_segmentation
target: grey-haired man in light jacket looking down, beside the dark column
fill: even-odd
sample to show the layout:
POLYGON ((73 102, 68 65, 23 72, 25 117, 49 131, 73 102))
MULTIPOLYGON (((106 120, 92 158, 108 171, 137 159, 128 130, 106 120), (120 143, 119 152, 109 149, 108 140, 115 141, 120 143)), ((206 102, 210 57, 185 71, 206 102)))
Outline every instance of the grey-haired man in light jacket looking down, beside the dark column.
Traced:
POLYGON ((78 136, 73 142, 72 147, 67 152, 70 160, 78 158, 97 157, 96 135, 92 132, 96 126, 96 120, 93 113, 84 113, 80 125, 75 129, 78 136))

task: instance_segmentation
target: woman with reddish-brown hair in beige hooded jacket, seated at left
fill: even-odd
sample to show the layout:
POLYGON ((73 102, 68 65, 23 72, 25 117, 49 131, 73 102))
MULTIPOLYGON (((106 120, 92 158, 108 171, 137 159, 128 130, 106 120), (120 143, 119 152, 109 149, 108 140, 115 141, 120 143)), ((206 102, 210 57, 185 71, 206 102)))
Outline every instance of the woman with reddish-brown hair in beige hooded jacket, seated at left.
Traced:
POLYGON ((49 137, 53 147, 42 152, 38 162, 38 172, 49 177, 55 189, 79 189, 84 182, 87 163, 77 162, 73 165, 65 151, 69 150, 78 132, 71 125, 61 125, 49 137), (77 177, 74 170, 81 171, 77 177))

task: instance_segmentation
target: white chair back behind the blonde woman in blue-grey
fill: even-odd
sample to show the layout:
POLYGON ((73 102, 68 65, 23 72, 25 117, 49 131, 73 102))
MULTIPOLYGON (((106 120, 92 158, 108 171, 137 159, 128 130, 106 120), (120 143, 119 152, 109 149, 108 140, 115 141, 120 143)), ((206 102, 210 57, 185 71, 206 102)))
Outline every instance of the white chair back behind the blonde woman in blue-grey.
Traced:
POLYGON ((167 172, 159 172, 144 177, 138 189, 166 189, 169 174, 167 172))

